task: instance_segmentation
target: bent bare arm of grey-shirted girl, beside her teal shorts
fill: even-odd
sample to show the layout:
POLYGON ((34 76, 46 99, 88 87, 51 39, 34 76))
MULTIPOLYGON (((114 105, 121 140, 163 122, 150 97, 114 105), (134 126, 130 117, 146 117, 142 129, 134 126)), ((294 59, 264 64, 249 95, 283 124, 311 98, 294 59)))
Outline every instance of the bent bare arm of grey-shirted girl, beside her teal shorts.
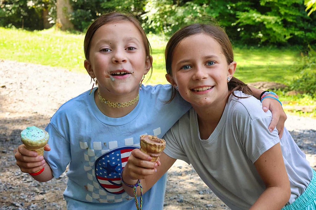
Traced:
POLYGON ((254 162, 266 189, 259 196, 250 210, 281 209, 289 201, 291 195, 289 177, 286 172, 280 143, 265 151, 254 162))

